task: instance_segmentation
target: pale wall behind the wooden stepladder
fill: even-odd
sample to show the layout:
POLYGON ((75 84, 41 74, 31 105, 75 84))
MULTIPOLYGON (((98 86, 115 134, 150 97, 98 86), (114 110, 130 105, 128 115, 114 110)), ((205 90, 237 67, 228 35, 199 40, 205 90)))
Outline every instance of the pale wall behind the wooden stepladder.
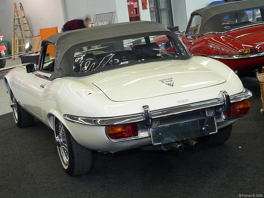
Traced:
MULTIPOLYGON (((13 38, 13 3, 21 2, 29 21, 34 36, 39 33, 39 29, 48 27, 58 27, 64 24, 62 4, 60 0, 1 0, 0 3, 0 27, 4 40, 9 41, 9 49, 12 52, 13 38)), ((17 6, 18 7, 18 6, 17 6)), ((17 20, 16 20, 17 22, 17 20)), ((24 20, 26 23, 26 20, 24 20)), ((25 27, 25 29, 27 29, 25 27)), ((28 35, 28 32, 26 32, 28 35)), ((32 39, 27 39, 31 42, 32 39)))

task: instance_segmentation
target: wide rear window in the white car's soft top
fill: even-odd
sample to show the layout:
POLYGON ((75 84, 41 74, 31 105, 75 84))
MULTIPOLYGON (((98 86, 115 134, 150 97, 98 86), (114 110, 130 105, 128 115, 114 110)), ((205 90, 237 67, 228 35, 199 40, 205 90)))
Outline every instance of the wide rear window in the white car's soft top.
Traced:
POLYGON ((83 46, 74 53, 75 73, 115 69, 121 65, 180 59, 186 48, 169 35, 146 36, 83 46), (117 66, 118 65, 118 66, 117 66))

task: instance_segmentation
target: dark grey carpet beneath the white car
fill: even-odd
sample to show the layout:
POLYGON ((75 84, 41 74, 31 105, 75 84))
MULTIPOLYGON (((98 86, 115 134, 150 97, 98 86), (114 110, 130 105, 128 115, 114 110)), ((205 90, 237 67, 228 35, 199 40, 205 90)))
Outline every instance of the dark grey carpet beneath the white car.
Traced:
POLYGON ((0 197, 239 197, 264 196, 264 116, 256 78, 243 78, 254 94, 247 116, 230 139, 198 150, 95 152, 91 172, 68 176, 49 128, 35 119, 17 128, 0 116, 0 197))

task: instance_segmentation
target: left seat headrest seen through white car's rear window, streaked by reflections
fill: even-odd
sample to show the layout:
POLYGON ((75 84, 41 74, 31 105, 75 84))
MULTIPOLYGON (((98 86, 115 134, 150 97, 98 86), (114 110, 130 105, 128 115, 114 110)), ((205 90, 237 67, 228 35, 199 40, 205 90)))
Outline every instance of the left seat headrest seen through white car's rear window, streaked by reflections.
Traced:
POLYGON ((93 71, 96 69, 95 55, 82 54, 74 56, 73 71, 76 73, 93 71))

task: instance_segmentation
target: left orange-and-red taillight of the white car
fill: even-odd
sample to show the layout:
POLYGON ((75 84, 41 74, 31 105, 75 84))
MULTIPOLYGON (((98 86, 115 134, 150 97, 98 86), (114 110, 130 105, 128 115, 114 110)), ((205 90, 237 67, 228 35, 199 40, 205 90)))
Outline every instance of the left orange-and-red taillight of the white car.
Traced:
POLYGON ((107 134, 112 140, 131 138, 138 136, 138 125, 107 126, 107 134))

